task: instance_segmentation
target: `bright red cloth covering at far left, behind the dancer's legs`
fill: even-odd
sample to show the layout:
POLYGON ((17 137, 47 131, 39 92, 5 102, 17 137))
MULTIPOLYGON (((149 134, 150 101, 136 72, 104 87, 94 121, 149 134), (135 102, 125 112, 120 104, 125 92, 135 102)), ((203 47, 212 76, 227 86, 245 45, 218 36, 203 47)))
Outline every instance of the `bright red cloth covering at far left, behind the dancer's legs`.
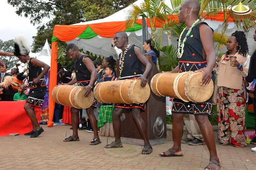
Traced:
MULTIPOLYGON (((0 102, 0 136, 10 133, 23 135, 33 129, 30 118, 24 110, 25 101, 0 102)), ((40 109, 35 107, 36 118, 40 122, 40 109)))

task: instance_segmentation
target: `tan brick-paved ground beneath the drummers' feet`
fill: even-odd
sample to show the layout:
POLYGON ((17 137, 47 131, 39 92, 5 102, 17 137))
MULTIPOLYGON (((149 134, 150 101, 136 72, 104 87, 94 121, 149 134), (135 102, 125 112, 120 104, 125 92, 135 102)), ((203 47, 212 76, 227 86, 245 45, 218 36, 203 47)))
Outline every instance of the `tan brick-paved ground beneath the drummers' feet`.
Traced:
MULTIPOLYGON (((124 144, 123 148, 105 149, 102 143, 90 146, 93 133, 79 130, 80 141, 63 142, 72 134, 71 126, 57 125, 47 128, 37 138, 29 136, 0 137, 0 170, 204 170, 209 162, 206 145, 182 144, 183 157, 161 157, 173 142, 153 146, 153 153, 142 155, 142 146, 124 144)), ((108 142, 112 142, 112 137, 108 142)), ((256 170, 256 153, 245 148, 221 146, 217 152, 222 162, 221 170, 256 170)))

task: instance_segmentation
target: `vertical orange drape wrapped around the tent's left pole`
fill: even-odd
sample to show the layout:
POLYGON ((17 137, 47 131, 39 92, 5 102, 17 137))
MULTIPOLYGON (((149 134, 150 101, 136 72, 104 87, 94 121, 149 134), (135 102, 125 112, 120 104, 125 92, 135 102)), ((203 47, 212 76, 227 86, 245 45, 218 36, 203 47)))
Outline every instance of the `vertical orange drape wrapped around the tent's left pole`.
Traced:
POLYGON ((57 42, 52 42, 52 53, 51 53, 51 71, 50 71, 50 81, 49 81, 49 121, 47 122, 47 127, 53 127, 53 113, 55 102, 52 99, 52 90, 56 86, 57 80, 57 42))

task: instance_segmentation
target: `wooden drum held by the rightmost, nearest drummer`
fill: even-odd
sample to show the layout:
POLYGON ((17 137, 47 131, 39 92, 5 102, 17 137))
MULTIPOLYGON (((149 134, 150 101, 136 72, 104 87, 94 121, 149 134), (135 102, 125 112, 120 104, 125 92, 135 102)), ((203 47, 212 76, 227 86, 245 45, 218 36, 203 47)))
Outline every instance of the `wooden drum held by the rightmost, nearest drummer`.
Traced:
POLYGON ((202 72, 158 73, 150 82, 151 90, 158 96, 169 96, 184 102, 205 102, 213 94, 211 80, 207 86, 201 86, 202 72))

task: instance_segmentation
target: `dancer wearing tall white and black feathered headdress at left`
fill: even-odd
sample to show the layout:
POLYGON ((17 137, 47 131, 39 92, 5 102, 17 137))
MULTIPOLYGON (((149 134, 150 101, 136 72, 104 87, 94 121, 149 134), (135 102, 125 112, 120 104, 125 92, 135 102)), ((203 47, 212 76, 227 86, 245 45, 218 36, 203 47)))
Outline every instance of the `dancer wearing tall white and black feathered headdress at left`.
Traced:
POLYGON ((39 126, 36 119, 35 107, 42 107, 46 92, 46 82, 44 76, 48 73, 50 66, 29 56, 29 44, 23 35, 15 37, 14 55, 16 55, 22 63, 27 64, 27 84, 29 88, 28 98, 24 109, 29 116, 33 125, 33 130, 25 133, 30 137, 37 137, 43 133, 44 129, 39 126), (42 70, 42 68, 44 68, 42 70))

